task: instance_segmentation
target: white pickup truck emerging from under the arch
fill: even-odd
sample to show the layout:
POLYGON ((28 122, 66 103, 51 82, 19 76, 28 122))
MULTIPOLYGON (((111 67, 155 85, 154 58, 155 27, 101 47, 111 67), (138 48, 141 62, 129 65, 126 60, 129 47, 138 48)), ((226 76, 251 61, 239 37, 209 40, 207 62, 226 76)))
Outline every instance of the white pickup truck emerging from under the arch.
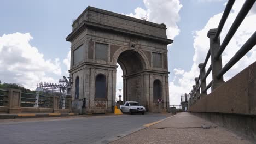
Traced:
POLYGON ((124 105, 120 105, 120 110, 122 112, 129 112, 130 114, 138 112, 144 115, 146 109, 144 106, 136 101, 126 101, 124 105))

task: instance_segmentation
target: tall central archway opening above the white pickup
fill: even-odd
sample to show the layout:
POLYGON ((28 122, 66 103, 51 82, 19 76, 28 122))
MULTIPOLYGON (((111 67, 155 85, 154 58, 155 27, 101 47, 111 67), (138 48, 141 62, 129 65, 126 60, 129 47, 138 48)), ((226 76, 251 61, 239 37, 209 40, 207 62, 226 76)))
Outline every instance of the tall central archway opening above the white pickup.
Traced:
POLYGON ((121 91, 121 100, 138 101, 144 104, 142 75, 146 69, 146 64, 142 56, 133 50, 122 52, 117 59, 117 83, 116 100, 119 100, 119 90, 121 91), (123 74, 123 76, 121 76, 123 74))

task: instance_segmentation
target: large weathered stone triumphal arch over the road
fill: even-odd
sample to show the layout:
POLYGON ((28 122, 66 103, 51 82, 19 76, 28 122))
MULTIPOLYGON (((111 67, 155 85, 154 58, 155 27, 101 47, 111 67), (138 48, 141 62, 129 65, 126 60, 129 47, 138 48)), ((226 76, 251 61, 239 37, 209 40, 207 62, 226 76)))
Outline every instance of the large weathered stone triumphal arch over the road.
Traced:
POLYGON ((124 74, 124 101, 138 101, 148 111, 159 112, 157 99, 153 99, 153 83, 160 80, 161 111, 168 110, 167 45, 173 40, 167 39, 165 25, 88 7, 72 27, 66 38, 71 42, 72 98, 79 91, 78 99, 86 98, 87 113, 113 112, 117 63, 124 74), (83 60, 74 63, 74 51, 78 47, 83 49, 83 60), (96 80, 98 75, 106 77, 104 98, 96 98, 97 82, 102 85, 102 81, 96 80), (79 87, 75 83, 77 77, 79 87))

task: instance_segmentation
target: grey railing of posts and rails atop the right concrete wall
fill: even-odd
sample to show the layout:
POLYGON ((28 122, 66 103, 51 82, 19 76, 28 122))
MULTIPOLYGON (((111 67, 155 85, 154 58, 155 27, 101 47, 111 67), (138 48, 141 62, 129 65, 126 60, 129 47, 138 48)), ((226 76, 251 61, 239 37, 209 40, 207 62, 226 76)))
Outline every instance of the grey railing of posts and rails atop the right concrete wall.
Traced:
POLYGON ((192 105, 196 102, 197 99, 201 99, 207 95, 207 90, 211 87, 212 91, 224 83, 223 75, 234 66, 246 53, 251 50, 256 45, 256 32, 251 35, 245 44, 236 52, 236 54, 229 60, 224 67, 222 67, 222 53, 225 50, 226 46, 229 44, 230 40, 234 36, 238 27, 241 25, 242 21, 245 19, 249 10, 253 7, 255 1, 246 0, 243 4, 241 10, 236 16, 236 19, 232 23, 228 33, 226 34, 223 43, 220 45, 219 35, 222 32, 222 29, 225 25, 226 20, 228 19, 229 13, 234 5, 235 0, 229 0, 222 19, 219 22, 217 29, 210 29, 207 36, 210 39, 210 49, 206 55, 204 63, 199 64, 200 75, 195 78, 195 85, 191 90, 191 97, 189 98, 189 105, 192 105), (206 64, 211 57, 210 67, 206 71, 206 64), (206 71, 206 72, 205 72, 206 71), (206 79, 208 75, 212 72, 212 81, 208 84, 206 79))

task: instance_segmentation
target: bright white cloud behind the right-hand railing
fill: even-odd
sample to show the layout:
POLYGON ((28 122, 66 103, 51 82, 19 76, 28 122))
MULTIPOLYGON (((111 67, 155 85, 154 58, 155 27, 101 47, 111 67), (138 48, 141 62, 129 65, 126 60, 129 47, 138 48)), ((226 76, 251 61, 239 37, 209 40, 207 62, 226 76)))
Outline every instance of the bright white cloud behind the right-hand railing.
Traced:
MULTIPOLYGON (((228 20, 225 23, 222 34, 220 35, 220 40, 225 38, 226 33, 228 33, 229 28, 234 22, 235 17, 237 16, 239 10, 242 7, 244 1, 236 1, 234 4, 234 8, 232 8, 232 12, 230 13, 228 20)), ((255 4, 254 4, 255 6, 255 4)), ((235 55, 235 53, 240 49, 240 47, 248 40, 249 37, 255 32, 256 27, 254 23, 256 23, 256 13, 253 13, 251 10, 250 14, 246 17, 246 19, 242 22, 240 28, 238 28, 234 37, 230 41, 229 45, 226 47, 225 51, 222 54, 222 63, 223 66, 228 63, 228 61, 235 55)), ((207 37, 207 32, 211 28, 217 28, 220 18, 222 17, 222 13, 216 14, 211 17, 206 26, 199 31, 194 31, 194 49, 195 55, 193 57, 193 65, 190 71, 185 71, 182 76, 179 77, 177 85, 174 83, 170 83, 170 101, 171 99, 176 100, 181 94, 188 93, 192 89, 192 85, 195 85, 194 77, 199 75, 199 68, 197 67, 199 63, 203 63, 208 52, 209 48, 209 39, 207 37), (183 91, 181 91, 183 90, 183 91)), ((224 75, 224 80, 227 81, 231 77, 235 76, 237 73, 248 67, 249 64, 255 62, 256 59, 256 47, 249 51, 246 56, 244 56, 238 63, 232 67, 228 73, 224 75)), ((211 63, 211 59, 208 61, 206 69, 208 69, 211 63)), ((179 71, 182 71, 179 69, 179 71)), ((174 72, 176 70, 174 69, 174 72)), ((178 76, 179 73, 176 74, 178 76)), ((211 74, 207 77, 207 82, 211 81, 211 74)), ((179 104, 179 99, 174 101, 175 104, 179 104)))

